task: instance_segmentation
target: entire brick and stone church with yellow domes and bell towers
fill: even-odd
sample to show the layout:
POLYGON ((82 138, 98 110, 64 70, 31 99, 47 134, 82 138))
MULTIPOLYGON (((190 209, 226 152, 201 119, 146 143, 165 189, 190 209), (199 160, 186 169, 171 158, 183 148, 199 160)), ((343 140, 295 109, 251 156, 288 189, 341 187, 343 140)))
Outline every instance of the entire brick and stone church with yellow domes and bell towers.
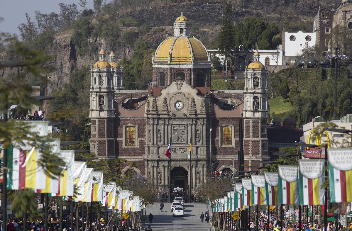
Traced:
POLYGON ((206 182, 209 171, 232 171, 233 162, 238 171, 242 119, 245 166, 260 165, 269 158, 268 79, 259 54, 253 57, 245 69, 244 90, 212 90, 209 53, 190 36, 182 13, 174 23, 174 36, 155 51, 148 91, 123 90, 123 71, 113 52, 107 62, 100 51, 91 70, 91 152, 98 158, 134 161, 134 170, 154 184, 187 190, 188 185, 206 182), (165 152, 170 142, 169 162, 165 152))

